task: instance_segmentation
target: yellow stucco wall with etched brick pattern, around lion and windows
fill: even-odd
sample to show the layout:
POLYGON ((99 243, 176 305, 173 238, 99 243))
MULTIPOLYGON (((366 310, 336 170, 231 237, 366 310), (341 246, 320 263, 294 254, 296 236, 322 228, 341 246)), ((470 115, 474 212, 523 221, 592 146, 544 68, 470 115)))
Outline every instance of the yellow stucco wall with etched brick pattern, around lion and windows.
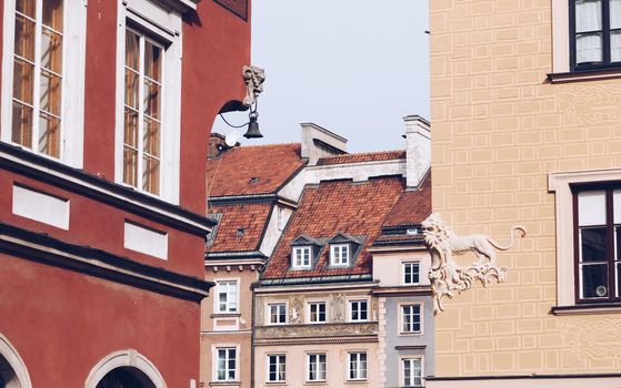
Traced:
POLYGON ((621 368, 621 315, 550 314, 557 254, 548 174, 621 169, 621 79, 547 81, 552 1, 429 1, 433 210, 460 235, 504 242, 511 225, 528 229, 499 253, 507 283, 445 302, 435 376, 621 368))

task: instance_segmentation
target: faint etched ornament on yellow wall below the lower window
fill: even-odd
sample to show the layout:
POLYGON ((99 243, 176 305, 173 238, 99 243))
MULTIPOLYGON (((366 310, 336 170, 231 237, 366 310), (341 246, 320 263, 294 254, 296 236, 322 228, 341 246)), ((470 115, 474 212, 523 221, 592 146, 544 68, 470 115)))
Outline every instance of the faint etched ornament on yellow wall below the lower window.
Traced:
POLYGON ((621 358, 621 320, 567 319, 559 323, 563 343, 581 360, 621 358))

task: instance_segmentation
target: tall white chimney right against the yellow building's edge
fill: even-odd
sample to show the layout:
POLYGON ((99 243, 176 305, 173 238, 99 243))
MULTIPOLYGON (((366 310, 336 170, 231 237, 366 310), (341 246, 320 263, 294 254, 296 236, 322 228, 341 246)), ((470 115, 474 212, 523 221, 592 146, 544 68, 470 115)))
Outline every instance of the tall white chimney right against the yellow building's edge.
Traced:
POLYGON ((405 122, 405 184, 418 187, 431 165, 431 124, 413 114, 405 122))

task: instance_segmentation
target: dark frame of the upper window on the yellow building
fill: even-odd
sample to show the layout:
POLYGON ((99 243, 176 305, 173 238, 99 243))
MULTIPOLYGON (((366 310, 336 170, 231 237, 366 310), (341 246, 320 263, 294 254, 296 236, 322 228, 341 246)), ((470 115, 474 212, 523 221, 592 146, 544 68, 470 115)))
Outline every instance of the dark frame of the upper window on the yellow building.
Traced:
MULTIPOLYGON (((611 62, 610 59, 610 0, 602 1, 602 62, 577 63, 575 52, 575 0, 569 0, 569 51, 570 51, 570 71, 590 71, 590 70, 608 70, 621 69, 621 61, 611 62)), ((615 29, 621 30, 621 29, 615 29)), ((599 30, 598 30, 599 31, 599 30)), ((595 32, 595 31, 593 31, 595 32)))

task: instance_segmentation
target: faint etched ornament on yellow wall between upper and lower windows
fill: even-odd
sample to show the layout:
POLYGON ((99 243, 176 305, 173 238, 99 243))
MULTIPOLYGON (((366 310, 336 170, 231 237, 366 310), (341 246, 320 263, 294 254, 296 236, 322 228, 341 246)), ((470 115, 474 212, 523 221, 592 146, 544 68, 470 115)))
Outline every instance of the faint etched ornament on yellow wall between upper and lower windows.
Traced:
POLYGON ((621 86, 610 83, 580 88, 562 85, 557 104, 570 122, 618 122, 621 119, 621 86))

